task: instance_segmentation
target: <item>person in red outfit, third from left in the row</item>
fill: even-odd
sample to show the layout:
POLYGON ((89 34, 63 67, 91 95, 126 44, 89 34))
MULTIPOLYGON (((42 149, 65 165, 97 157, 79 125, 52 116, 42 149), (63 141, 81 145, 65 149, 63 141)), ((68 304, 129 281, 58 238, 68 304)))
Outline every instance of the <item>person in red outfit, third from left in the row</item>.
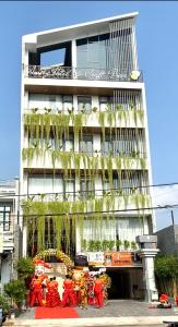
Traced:
POLYGON ((63 281, 63 296, 62 306, 75 306, 75 294, 74 294, 74 282, 69 275, 66 276, 67 279, 63 281))

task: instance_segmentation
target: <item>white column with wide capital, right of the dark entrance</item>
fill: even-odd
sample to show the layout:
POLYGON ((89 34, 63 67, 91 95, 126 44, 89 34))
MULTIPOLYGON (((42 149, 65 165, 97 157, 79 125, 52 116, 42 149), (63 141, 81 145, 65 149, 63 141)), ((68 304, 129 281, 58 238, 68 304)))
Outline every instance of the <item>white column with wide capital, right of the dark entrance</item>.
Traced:
POLYGON ((159 252, 158 249, 142 249, 138 253, 143 264, 143 283, 145 288, 145 301, 158 300, 158 292, 155 284, 154 258, 159 252))

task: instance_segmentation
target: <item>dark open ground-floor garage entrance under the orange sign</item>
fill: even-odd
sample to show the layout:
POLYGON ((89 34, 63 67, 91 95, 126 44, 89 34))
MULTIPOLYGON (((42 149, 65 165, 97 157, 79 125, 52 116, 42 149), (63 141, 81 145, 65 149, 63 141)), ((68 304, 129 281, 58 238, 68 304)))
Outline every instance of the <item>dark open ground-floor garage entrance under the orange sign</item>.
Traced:
POLYGON ((111 267, 107 268, 106 272, 111 278, 108 299, 144 300, 143 269, 141 267, 111 267))

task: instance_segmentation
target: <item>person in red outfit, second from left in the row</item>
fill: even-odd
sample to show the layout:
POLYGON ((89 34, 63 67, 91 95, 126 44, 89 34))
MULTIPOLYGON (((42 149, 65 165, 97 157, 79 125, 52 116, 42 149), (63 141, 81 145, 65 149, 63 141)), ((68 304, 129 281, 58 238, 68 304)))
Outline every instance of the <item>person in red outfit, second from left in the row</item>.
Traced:
POLYGON ((46 294, 46 306, 59 306, 61 304, 59 292, 58 292, 58 282, 56 277, 50 278, 50 281, 47 283, 47 294, 46 294))

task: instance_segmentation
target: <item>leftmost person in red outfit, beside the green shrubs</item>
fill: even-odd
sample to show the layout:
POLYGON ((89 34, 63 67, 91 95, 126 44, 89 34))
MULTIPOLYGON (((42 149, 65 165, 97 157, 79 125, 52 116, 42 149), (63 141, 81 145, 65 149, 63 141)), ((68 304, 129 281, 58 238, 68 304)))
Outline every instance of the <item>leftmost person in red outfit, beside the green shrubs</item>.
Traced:
POLYGON ((38 276, 35 276, 35 278, 31 282, 31 306, 34 306, 36 303, 37 305, 44 304, 44 298, 43 298, 43 289, 41 289, 41 279, 38 278, 38 276))

